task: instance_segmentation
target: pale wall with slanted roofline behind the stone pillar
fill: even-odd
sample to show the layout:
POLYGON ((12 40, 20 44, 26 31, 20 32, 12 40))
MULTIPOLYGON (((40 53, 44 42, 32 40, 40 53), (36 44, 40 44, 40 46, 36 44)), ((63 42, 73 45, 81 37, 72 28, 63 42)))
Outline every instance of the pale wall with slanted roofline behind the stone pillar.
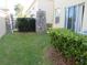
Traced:
POLYGON ((30 17, 30 14, 35 14, 35 17, 36 17, 36 11, 39 11, 39 9, 41 9, 46 12, 46 23, 53 23, 53 21, 54 21, 54 0, 36 0, 36 2, 32 6, 32 8, 30 9, 31 13, 28 13, 29 14, 28 17, 30 17), (32 10, 32 8, 35 8, 35 9, 32 10))

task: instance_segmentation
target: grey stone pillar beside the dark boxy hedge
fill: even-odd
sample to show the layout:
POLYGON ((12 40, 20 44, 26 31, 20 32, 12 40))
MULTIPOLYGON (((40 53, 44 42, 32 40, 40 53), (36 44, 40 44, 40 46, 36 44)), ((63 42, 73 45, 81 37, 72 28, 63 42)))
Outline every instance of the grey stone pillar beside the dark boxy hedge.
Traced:
POLYGON ((36 12, 36 32, 40 34, 46 33, 46 13, 45 13, 45 11, 39 10, 36 12))

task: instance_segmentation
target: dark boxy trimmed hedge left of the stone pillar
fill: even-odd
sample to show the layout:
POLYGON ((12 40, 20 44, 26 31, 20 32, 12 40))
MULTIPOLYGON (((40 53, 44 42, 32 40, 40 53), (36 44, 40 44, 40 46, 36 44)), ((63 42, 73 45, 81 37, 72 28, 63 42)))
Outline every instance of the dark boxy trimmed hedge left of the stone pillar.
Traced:
POLYGON ((18 18, 17 26, 20 32, 35 32, 34 18, 18 18))

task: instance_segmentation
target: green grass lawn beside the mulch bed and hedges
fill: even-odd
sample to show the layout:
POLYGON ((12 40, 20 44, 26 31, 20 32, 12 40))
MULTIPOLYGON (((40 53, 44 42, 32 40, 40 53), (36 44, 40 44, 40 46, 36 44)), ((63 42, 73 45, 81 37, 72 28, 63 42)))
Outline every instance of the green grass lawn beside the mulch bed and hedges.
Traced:
POLYGON ((0 65, 51 65, 46 58, 48 35, 14 33, 0 40, 0 65))

